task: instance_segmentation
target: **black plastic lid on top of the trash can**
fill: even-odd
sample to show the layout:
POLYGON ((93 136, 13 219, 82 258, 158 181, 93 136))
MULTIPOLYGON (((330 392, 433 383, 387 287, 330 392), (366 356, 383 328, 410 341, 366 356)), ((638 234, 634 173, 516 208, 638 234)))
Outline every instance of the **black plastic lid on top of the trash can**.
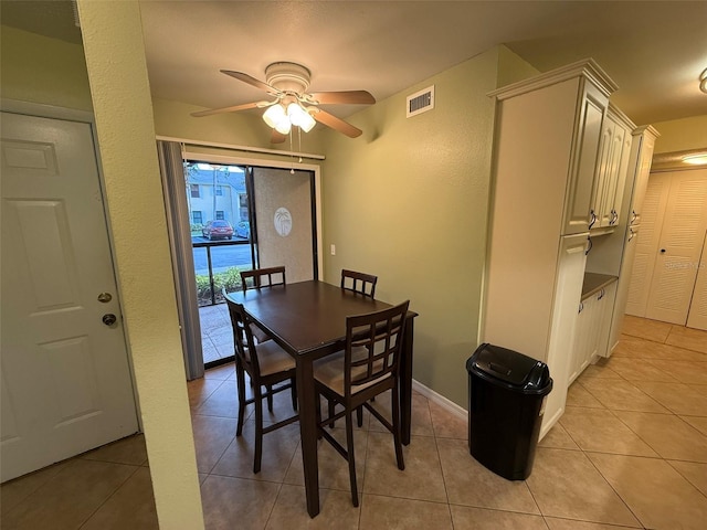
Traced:
POLYGON ((502 381, 505 386, 517 391, 541 391, 552 383, 545 362, 489 343, 476 349, 466 368, 486 380, 502 381))

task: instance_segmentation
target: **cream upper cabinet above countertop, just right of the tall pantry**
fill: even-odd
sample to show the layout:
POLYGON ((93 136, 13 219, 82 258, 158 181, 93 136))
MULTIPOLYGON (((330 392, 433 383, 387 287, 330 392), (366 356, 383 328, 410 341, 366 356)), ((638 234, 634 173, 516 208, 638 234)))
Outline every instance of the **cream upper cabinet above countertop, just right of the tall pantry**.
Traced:
POLYGON ((613 229, 621 218, 621 204, 635 125, 613 105, 602 124, 599 165, 591 206, 591 230, 613 229))

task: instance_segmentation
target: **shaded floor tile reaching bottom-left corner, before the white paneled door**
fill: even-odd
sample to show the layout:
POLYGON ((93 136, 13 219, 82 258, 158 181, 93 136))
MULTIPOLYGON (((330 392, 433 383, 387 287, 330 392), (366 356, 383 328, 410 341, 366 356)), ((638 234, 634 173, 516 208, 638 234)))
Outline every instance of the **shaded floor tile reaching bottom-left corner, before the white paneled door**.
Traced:
POLYGON ((136 466, 74 458, 3 515, 2 528, 77 529, 137 469, 136 466))

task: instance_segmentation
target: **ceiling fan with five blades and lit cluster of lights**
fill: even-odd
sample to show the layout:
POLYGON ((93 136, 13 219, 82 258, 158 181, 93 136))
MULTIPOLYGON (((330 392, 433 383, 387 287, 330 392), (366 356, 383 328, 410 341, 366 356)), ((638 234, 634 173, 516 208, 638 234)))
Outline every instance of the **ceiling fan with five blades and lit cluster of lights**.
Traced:
POLYGON ((211 116, 221 113, 235 113, 249 108, 267 108, 263 120, 273 128, 273 144, 285 141, 291 127, 297 126, 305 132, 312 130, 316 121, 326 125, 349 138, 361 135, 361 129, 319 108, 320 105, 372 105, 376 98, 366 91, 313 92, 308 93, 312 73, 300 64, 278 62, 265 68, 265 82, 243 72, 222 70, 222 73, 235 77, 270 94, 274 99, 245 103, 231 107, 212 108, 192 113, 194 117, 211 116))

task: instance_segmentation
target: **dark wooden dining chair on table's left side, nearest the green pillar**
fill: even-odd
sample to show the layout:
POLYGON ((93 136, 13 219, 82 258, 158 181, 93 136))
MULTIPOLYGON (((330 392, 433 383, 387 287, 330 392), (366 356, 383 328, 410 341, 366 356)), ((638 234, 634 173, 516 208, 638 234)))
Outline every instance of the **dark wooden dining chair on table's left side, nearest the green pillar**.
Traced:
MULTIPOLYGON (((243 434, 243 420, 245 417, 245 406, 255 405, 255 454, 253 457, 253 473, 260 473, 263 456, 263 435, 279 427, 289 425, 299 420, 295 414, 286 420, 263 426, 263 400, 272 403, 272 396, 291 390, 292 406, 297 411, 297 388, 295 383, 295 360, 283 350, 274 340, 268 340, 263 344, 255 344, 253 332, 251 331, 252 320, 243 309, 243 306, 226 298, 231 325, 233 327, 233 346, 235 348, 235 379, 239 394, 239 418, 235 435, 243 434), (245 396, 245 374, 249 374, 253 398, 245 396), (286 384, 275 386, 278 383, 286 384), (265 388, 265 392, 263 392, 265 388)), ((272 406, 270 406, 272 411, 272 406)))

